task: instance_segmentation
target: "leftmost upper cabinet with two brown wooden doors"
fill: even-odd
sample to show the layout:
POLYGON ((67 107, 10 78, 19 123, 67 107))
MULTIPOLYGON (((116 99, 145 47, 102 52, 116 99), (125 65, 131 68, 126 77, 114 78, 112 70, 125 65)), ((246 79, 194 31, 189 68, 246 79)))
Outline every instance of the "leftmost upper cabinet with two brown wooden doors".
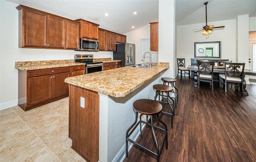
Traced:
POLYGON ((19 5, 19 47, 65 48, 66 20, 19 5))

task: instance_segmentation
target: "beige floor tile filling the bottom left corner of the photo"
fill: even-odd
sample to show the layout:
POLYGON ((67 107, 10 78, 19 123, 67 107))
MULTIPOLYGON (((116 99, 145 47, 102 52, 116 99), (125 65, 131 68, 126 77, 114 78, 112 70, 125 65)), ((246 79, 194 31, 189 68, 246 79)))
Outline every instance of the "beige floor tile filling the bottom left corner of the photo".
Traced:
POLYGON ((31 133, 0 148, 0 161, 20 162, 43 147, 44 143, 34 133, 31 133))

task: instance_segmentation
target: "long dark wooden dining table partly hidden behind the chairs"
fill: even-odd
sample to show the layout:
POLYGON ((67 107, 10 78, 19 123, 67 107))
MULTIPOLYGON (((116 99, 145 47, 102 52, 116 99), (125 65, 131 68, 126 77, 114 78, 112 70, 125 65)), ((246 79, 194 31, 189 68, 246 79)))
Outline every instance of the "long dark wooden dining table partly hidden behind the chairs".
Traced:
MULTIPOLYGON (((197 72, 198 72, 198 66, 196 65, 188 65, 188 69, 191 70, 191 78, 194 78, 194 86, 197 87, 198 86, 198 82, 197 82, 197 72)), ((219 79, 219 74, 225 74, 225 67, 224 66, 214 66, 213 68, 213 80, 216 82, 220 82, 219 79)), ((252 75, 252 76, 256 76, 256 71, 253 70, 249 70, 249 69, 244 69, 244 75, 252 75)), ((246 90, 246 82, 244 80, 243 82, 243 86, 244 86, 244 94, 248 95, 248 92, 246 90)))

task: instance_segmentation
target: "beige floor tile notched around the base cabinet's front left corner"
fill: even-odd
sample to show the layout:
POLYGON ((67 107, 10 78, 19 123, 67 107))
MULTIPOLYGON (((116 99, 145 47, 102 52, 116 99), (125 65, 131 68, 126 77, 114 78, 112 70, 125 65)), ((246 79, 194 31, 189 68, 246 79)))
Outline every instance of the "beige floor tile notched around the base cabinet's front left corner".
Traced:
POLYGON ((36 116, 42 115, 51 110, 46 105, 40 106, 38 108, 34 108, 32 110, 28 110, 26 112, 23 111, 22 109, 21 109, 22 110, 21 111, 20 109, 21 108, 12 108, 12 110, 14 110, 18 114, 18 116, 20 116, 20 118, 22 118, 22 120, 24 120, 24 121, 35 118, 36 116))

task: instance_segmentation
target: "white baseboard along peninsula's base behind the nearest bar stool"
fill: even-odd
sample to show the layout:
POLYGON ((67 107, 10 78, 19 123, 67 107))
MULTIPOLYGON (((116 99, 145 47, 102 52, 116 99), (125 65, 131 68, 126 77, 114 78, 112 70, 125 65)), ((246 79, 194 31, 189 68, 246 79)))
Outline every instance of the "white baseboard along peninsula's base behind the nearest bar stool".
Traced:
MULTIPOLYGON (((150 119, 150 118, 148 118, 150 119)), ((142 118, 142 120, 146 121, 146 115, 142 118)), ((142 123, 141 129, 145 127, 145 124, 142 123)), ((136 139, 140 136, 140 127, 137 126, 137 128, 134 130, 134 132, 130 135, 130 139, 136 141, 136 139)), ((132 148, 133 144, 130 144, 128 142, 128 152, 132 148)), ((119 150, 119 152, 116 154, 115 158, 112 160, 112 162, 122 162, 124 161, 124 158, 126 157, 126 150, 125 150, 125 144, 122 146, 122 148, 119 150)))

